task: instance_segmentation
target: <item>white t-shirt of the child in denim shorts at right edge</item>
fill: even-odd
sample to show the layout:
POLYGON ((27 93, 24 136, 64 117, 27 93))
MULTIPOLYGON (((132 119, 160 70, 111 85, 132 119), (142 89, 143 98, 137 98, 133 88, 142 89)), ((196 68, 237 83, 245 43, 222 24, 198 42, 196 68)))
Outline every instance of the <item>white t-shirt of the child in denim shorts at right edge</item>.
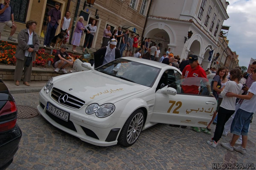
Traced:
MULTIPOLYGON (((248 92, 253 93, 253 97, 249 100, 245 100, 242 102, 240 109, 255 113, 256 112, 256 82, 251 84, 251 87, 249 88, 248 92)), ((247 93, 248 94, 248 93, 247 93)))

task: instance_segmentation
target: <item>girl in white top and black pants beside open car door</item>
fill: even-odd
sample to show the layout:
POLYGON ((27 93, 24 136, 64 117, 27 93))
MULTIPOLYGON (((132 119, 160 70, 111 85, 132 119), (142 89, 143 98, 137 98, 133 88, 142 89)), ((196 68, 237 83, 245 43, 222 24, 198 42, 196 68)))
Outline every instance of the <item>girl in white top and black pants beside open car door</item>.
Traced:
POLYGON ((233 68, 230 71, 230 81, 227 82, 223 91, 220 95, 223 97, 223 100, 220 104, 220 108, 218 110, 218 119, 217 125, 214 132, 214 137, 211 141, 207 141, 207 143, 216 148, 217 142, 220 140, 220 137, 224 130, 224 125, 230 118, 230 116, 235 112, 235 99, 236 97, 226 97, 227 92, 232 92, 238 94, 242 89, 242 84, 239 81, 242 78, 242 71, 239 68, 233 68))

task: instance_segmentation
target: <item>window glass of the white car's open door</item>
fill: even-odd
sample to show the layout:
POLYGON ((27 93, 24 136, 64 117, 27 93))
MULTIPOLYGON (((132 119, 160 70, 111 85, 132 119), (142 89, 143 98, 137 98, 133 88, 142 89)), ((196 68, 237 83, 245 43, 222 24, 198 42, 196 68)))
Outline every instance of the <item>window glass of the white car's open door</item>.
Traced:
POLYGON ((177 94, 209 96, 210 92, 212 92, 212 81, 212 79, 208 78, 190 77, 171 83, 168 87, 175 88, 177 94))

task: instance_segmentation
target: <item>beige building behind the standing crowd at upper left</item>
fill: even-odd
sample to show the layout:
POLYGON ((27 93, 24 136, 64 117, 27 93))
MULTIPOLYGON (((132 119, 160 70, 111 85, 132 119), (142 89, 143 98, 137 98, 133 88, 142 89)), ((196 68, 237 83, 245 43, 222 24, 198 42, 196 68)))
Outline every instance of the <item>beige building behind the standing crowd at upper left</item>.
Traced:
MULTIPOLYGON (((70 31, 71 33, 76 28, 79 16, 82 15, 85 18, 84 25, 90 24, 92 20, 96 20, 97 32, 92 42, 92 48, 95 49, 101 47, 103 31, 107 25, 111 26, 111 30, 121 26, 129 28, 130 32, 141 34, 149 9, 149 0, 95 0, 94 5, 90 5, 90 7, 85 3, 86 0, 19 0, 15 1, 15 3, 18 2, 19 4, 12 4, 13 2, 14 0, 11 0, 17 32, 25 28, 26 21, 34 20, 38 22, 36 33, 40 36, 43 32, 45 35, 48 24, 47 12, 55 6, 55 2, 61 4, 59 8, 62 13, 61 17, 64 17, 66 11, 71 12, 71 19, 75 20, 70 31), (87 6, 85 6, 86 4, 87 6)), ((5 34, 8 35, 9 29, 7 27, 5 31, 5 34)), ((56 34, 59 31, 60 26, 58 26, 56 34)), ((81 38, 81 46, 84 40, 85 35, 81 38)))

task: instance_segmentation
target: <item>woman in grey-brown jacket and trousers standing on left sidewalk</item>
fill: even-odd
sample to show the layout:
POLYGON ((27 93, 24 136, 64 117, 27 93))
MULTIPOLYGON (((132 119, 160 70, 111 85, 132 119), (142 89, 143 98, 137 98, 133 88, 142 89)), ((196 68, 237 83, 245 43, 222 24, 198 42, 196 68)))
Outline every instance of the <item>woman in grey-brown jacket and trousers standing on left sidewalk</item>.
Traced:
POLYGON ((28 82, 31 80, 32 63, 36 60, 36 52, 39 50, 39 39, 35 32, 36 25, 36 21, 27 21, 26 29, 21 30, 18 34, 18 45, 15 53, 15 85, 19 85, 24 68, 23 84, 30 86, 28 82))

